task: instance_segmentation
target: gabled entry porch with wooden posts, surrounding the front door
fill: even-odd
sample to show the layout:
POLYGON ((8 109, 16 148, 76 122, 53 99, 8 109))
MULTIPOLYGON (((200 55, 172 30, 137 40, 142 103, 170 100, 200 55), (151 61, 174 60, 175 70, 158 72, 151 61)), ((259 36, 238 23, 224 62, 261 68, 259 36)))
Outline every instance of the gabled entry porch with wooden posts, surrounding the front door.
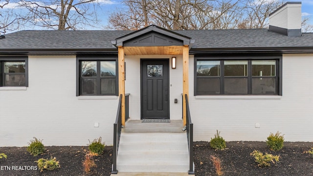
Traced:
POLYGON ((118 48, 118 88, 119 94, 123 95, 123 126, 125 92, 131 94, 131 106, 140 105, 135 107, 136 113, 133 113, 130 107, 131 117, 173 119, 175 114, 172 111, 175 109, 176 112, 183 112, 175 119, 181 119, 182 116, 183 125, 186 124, 185 98, 180 98, 181 93, 187 94, 187 97, 189 95, 189 48, 193 43, 189 37, 155 25, 112 41, 118 48), (179 68, 173 68, 172 58, 176 58, 179 68), (156 75, 159 73, 161 75, 156 75), (178 105, 174 104, 175 99, 179 99, 180 106, 175 106, 178 105), (163 111, 163 114, 156 114, 161 113, 160 111, 163 111))

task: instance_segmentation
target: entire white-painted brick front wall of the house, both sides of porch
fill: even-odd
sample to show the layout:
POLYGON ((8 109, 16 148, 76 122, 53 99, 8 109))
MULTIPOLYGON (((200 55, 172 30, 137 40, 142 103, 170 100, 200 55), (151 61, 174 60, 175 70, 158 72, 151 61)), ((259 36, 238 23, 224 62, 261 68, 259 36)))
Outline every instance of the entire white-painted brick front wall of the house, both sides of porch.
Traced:
MULTIPOLYGON (((140 58, 126 56, 130 117, 140 119, 140 58)), ((190 56, 189 101, 194 140, 209 141, 216 130, 226 141, 265 141, 282 132, 286 141, 313 140, 313 54, 283 55, 283 96, 193 96, 194 57, 190 56), (234 98, 236 97, 236 98, 234 98), (202 98, 202 99, 200 99, 202 98), (204 99, 203 99, 204 98, 204 99), (260 128, 255 128, 255 123, 260 128)), ((29 56, 29 87, 0 90, 0 146, 27 146, 32 137, 49 145, 87 145, 102 137, 112 145, 118 99, 76 97, 75 56, 29 56), (99 127, 93 127, 98 122, 99 127)), ((170 118, 181 119, 182 58, 170 66, 170 118), (179 100, 174 104, 174 99, 179 100)))

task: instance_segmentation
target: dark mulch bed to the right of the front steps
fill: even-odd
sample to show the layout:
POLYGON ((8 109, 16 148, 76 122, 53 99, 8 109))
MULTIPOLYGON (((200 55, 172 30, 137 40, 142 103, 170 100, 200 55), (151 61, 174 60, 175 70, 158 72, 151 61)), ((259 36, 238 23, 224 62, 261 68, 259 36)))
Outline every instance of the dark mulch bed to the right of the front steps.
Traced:
POLYGON ((224 176, 313 176, 313 157, 305 153, 313 147, 312 142, 284 142, 278 152, 269 150, 266 142, 226 142, 227 149, 223 151, 209 148, 209 142, 194 144, 196 176, 215 175, 210 155, 221 159, 224 176), (270 167, 259 168, 250 156, 253 150, 281 157, 270 167))

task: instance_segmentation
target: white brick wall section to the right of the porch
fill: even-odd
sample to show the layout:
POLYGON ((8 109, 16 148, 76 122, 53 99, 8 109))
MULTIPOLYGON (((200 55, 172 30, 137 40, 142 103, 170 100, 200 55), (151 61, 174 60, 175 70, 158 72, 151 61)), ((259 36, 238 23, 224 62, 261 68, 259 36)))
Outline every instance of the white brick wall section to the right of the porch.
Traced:
MULTIPOLYGON (((189 62, 192 69, 193 61, 189 62)), ((265 141, 270 132, 277 131, 285 134, 286 141, 313 141, 312 65, 313 54, 283 55, 283 96, 278 99, 189 96, 194 140, 209 141, 219 130, 226 141, 265 141), (255 128, 255 123, 260 128, 255 128)), ((189 91, 192 93, 191 69, 189 91)))

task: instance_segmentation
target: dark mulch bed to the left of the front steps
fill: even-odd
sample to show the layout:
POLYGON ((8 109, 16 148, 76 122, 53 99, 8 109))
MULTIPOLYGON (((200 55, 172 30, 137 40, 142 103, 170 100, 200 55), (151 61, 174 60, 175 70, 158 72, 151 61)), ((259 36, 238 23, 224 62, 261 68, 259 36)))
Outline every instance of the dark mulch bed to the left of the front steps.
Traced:
POLYGON ((102 155, 93 156, 97 167, 92 168, 89 174, 86 174, 83 168, 86 153, 84 150, 88 150, 87 146, 49 146, 45 148, 45 154, 33 156, 26 151, 26 147, 0 147, 0 153, 7 155, 7 159, 0 159, 0 176, 110 176, 113 163, 113 147, 111 146, 106 146, 102 155), (40 169, 27 168, 27 166, 37 166, 34 161, 39 158, 50 159, 51 156, 60 161, 61 168, 43 172, 40 172, 40 169), (3 166, 10 166, 11 170, 5 170, 3 166))

